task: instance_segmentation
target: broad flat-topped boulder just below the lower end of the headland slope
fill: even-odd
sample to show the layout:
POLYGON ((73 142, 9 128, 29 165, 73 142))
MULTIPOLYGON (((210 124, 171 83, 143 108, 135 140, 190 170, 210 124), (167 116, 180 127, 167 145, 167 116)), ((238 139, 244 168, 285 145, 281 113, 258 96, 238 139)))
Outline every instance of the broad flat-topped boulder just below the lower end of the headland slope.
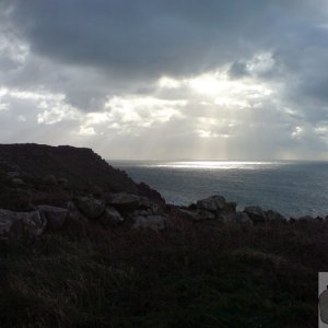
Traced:
POLYGON ((151 208, 151 202, 148 198, 127 192, 113 194, 107 202, 122 211, 151 208))

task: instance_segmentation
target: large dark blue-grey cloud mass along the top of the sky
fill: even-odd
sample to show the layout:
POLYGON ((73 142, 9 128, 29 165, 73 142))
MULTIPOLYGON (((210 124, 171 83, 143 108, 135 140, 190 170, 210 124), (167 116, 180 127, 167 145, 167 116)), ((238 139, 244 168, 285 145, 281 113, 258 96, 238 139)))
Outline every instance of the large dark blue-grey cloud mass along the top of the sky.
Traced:
POLYGON ((305 20, 304 11, 311 19, 319 10, 302 0, 14 3, 13 19, 34 51, 132 77, 188 75, 237 60, 241 55, 247 58, 255 47, 283 42, 288 37, 284 30, 305 20))

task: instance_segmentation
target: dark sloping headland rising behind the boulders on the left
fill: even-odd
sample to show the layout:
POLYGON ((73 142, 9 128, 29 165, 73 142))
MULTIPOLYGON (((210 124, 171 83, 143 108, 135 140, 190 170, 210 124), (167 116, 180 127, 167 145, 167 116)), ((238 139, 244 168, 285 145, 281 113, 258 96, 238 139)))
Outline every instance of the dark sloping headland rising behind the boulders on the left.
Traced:
POLYGON ((126 191, 144 195, 164 202, 148 185, 136 184, 124 171, 114 168, 87 148, 45 144, 0 144, 0 172, 24 177, 24 180, 46 180, 54 176, 67 180, 74 190, 101 189, 104 192, 126 191))

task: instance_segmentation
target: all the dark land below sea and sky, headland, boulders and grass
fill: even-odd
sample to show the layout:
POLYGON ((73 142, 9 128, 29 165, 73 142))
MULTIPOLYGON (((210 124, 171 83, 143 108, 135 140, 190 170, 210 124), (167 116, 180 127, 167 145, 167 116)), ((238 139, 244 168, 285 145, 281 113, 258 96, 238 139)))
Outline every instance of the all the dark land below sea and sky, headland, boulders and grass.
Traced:
POLYGON ((219 195, 167 204, 90 149, 1 144, 0 319, 313 327, 328 216, 236 209, 219 195))

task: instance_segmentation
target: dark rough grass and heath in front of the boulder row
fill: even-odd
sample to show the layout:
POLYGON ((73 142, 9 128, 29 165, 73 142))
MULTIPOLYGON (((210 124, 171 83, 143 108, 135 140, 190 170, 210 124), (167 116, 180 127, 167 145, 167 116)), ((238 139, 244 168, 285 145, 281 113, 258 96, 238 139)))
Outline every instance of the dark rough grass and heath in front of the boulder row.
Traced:
POLYGON ((2 243, 1 327, 316 327, 327 222, 169 223, 2 243))

